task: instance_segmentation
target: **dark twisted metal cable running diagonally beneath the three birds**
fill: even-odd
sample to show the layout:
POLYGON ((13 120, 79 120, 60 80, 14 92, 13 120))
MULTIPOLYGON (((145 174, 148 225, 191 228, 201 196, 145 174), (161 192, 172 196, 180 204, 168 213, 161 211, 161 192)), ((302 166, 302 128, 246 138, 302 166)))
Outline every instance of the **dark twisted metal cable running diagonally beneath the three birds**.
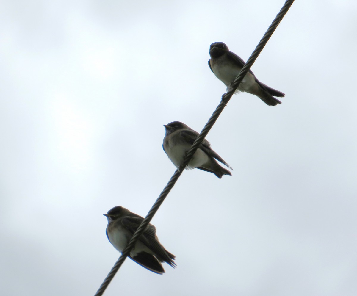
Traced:
POLYGON ((128 255, 130 255, 130 251, 133 249, 136 241, 139 239, 139 237, 142 235, 144 232, 145 228, 147 225, 149 225, 152 217, 154 217, 156 211, 159 209, 161 204, 164 202, 166 196, 169 194, 170 190, 172 187, 174 187, 176 181, 178 178, 181 176, 183 170, 187 166, 188 162, 191 160, 193 154, 196 152, 198 146, 201 144, 203 139, 207 136, 208 132, 211 130, 213 124, 215 124, 218 116, 222 113, 224 107, 227 105, 227 102, 231 99, 232 95, 234 94, 235 90, 237 89, 238 85, 241 83, 243 80, 243 77, 247 74, 248 70, 252 66, 252 64, 255 62, 257 59, 258 55, 260 52, 263 50, 263 47, 266 45, 268 42, 269 38, 275 31, 276 27, 279 25, 280 21, 282 18, 285 16, 286 12, 292 5, 294 0, 287 0, 283 7, 281 8, 280 12, 277 14, 275 19, 273 20, 272 24, 269 26, 268 30, 265 32, 263 38, 260 40, 259 44, 257 45, 256 49, 253 51, 252 55, 250 58, 247 60, 246 64, 243 66, 242 70, 239 72, 238 76, 232 83, 232 87, 230 90, 228 90, 225 94, 222 95, 222 100, 220 104, 217 106, 216 110, 213 112, 211 118, 208 120, 207 124, 201 131, 201 134, 197 137, 193 145, 191 146, 190 150, 188 150, 185 159, 183 160, 182 164, 178 167, 178 169, 175 171, 174 175, 172 175, 170 181, 166 184, 164 190, 161 192, 157 200, 155 201, 155 204, 152 206, 150 211, 147 213, 145 219, 141 222, 140 226, 138 229, 135 231, 134 235, 132 236, 131 240, 129 241, 129 244, 125 247, 125 249, 122 251, 121 256, 119 259, 115 262, 114 266, 112 267, 111 271, 99 287, 98 291, 96 292, 95 296, 101 296, 103 295, 105 289, 115 276, 116 272, 119 270, 120 266, 123 264, 124 260, 128 255))

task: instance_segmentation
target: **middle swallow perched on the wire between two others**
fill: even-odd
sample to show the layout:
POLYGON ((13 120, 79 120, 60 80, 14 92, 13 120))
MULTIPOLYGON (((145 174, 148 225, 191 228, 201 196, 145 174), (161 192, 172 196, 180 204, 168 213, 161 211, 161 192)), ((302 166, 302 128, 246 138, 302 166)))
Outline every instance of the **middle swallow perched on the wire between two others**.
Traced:
MULTIPOLYGON (((164 137, 164 143, 162 148, 169 156, 172 163, 179 167, 186 155, 186 152, 190 150, 193 142, 198 137, 198 132, 190 129, 186 124, 180 121, 170 122, 169 124, 164 124, 166 129, 166 135, 164 137)), ((195 154, 193 154, 192 159, 188 162, 186 169, 197 169, 211 172, 215 174, 218 178, 222 178, 223 175, 232 175, 230 171, 221 167, 216 159, 225 166, 233 170, 227 162, 225 162, 215 151, 211 149, 211 144, 204 139, 195 154)))

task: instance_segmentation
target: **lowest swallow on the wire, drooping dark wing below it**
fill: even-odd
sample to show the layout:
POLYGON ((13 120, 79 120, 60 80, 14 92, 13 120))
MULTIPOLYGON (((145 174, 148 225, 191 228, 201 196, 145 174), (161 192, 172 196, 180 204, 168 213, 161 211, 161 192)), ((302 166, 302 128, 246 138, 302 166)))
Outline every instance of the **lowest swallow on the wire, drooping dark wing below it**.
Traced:
MULTIPOLYGON (((108 240, 115 249, 122 252, 144 218, 122 206, 110 209, 104 216, 108 219, 106 229, 108 240)), ((128 257, 142 267, 160 275, 165 273, 161 262, 167 262, 170 266, 176 267, 175 256, 160 244, 156 236, 156 228, 151 224, 146 227, 144 233, 136 241, 135 247, 128 257)))

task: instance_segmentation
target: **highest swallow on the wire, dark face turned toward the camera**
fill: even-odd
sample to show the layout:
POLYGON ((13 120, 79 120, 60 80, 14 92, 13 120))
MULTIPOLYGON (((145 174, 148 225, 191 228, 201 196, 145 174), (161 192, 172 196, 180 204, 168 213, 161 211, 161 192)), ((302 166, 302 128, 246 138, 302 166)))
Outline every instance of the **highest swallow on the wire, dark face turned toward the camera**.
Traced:
MULTIPOLYGON (((210 56, 211 59, 208 60, 208 66, 210 66, 213 74, 227 86, 228 90, 231 87, 232 82, 238 76, 240 70, 242 70, 242 67, 245 65, 245 61, 234 52, 229 51, 228 46, 223 42, 215 42, 210 45, 210 56)), ((269 106, 281 104, 281 101, 273 96, 285 96, 281 91, 272 89, 260 82, 251 70, 249 70, 243 78, 236 93, 238 91, 245 91, 252 95, 256 95, 269 106)))

